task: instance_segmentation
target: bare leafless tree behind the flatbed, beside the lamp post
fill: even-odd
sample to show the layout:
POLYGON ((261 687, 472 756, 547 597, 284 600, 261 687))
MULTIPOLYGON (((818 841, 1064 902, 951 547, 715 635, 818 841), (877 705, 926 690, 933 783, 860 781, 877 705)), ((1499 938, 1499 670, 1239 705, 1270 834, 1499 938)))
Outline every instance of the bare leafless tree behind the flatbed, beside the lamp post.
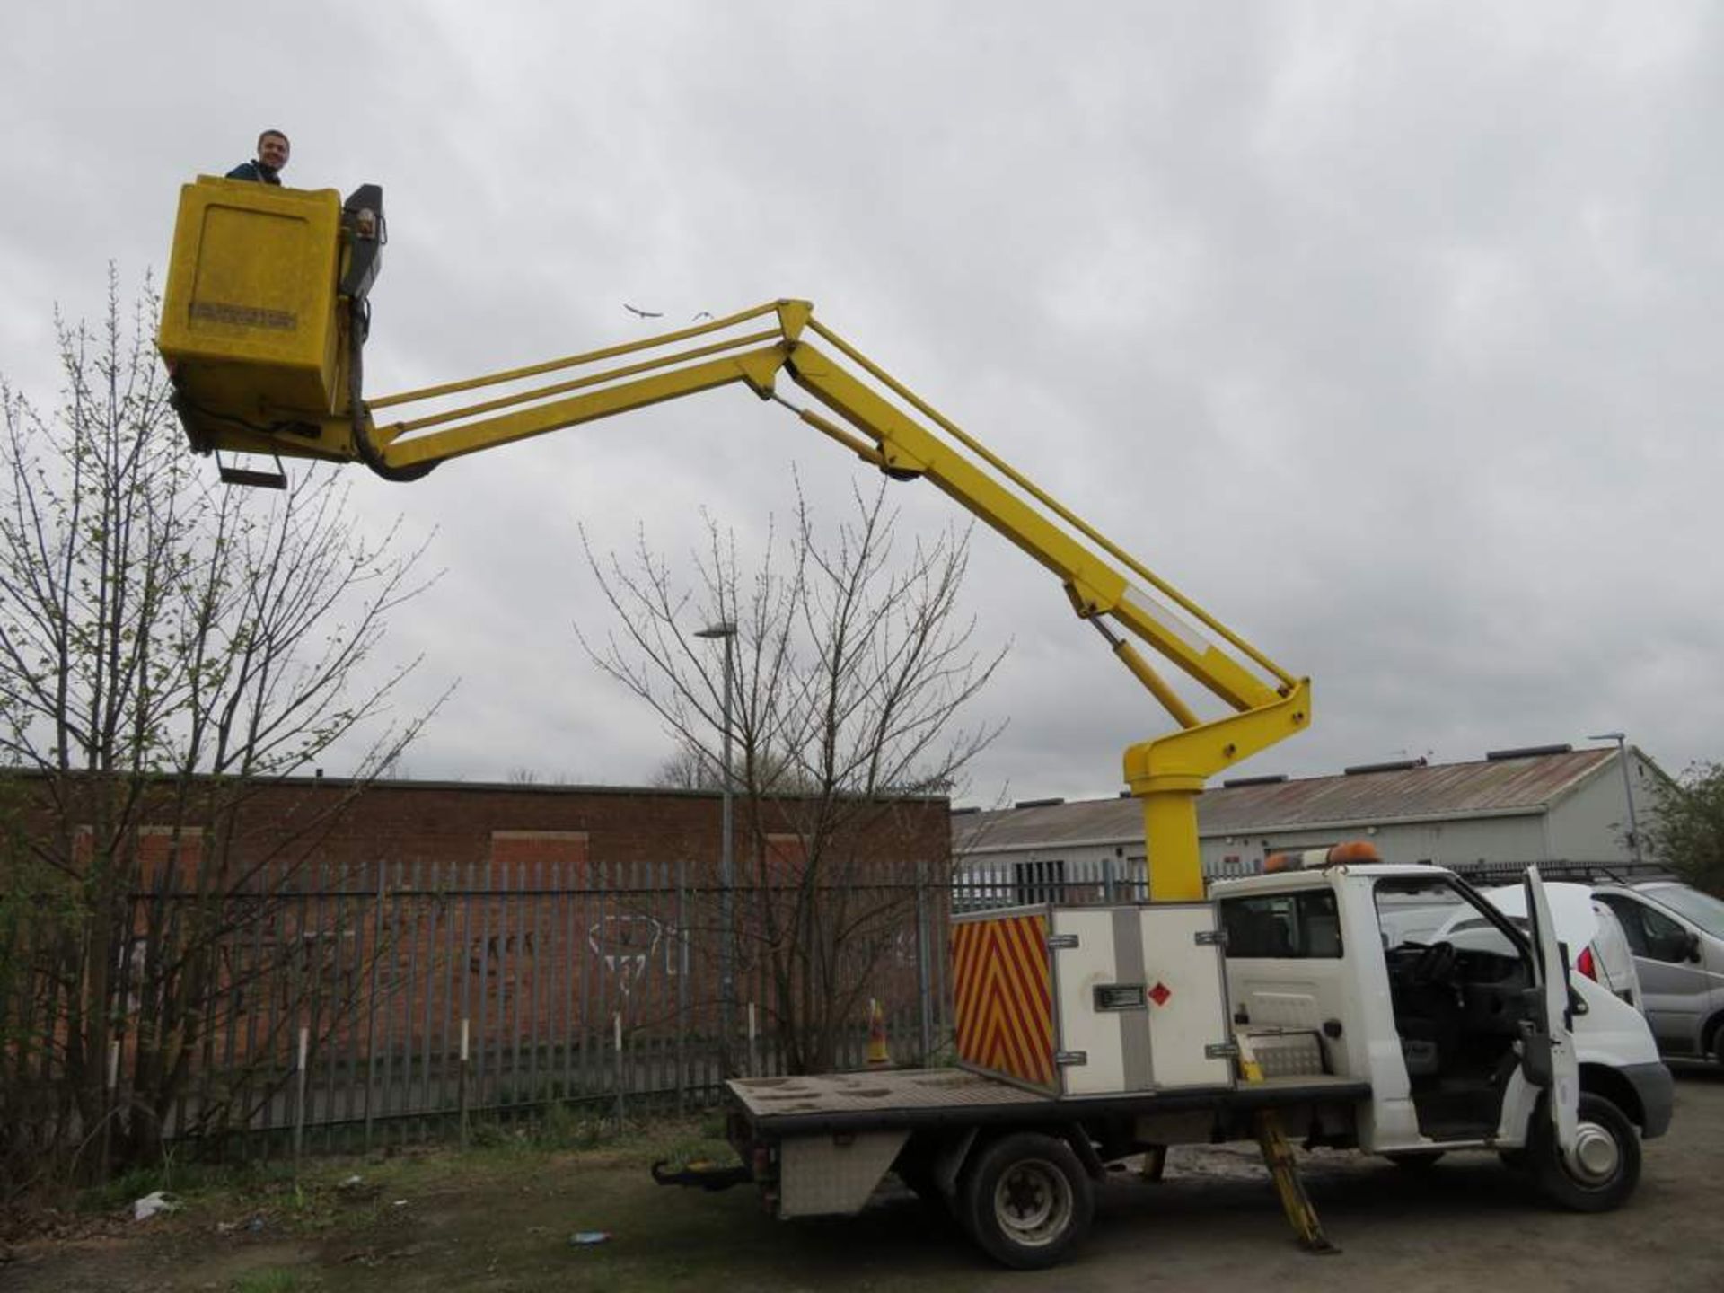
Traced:
POLYGON ((581 641, 653 707, 681 767, 722 769, 724 655, 693 631, 736 626, 729 729, 748 893, 734 933, 740 974, 767 983, 767 1026, 791 1071, 833 1064, 905 955, 907 864, 928 860, 893 857, 907 798, 946 796, 998 734, 959 721, 1005 655, 978 655, 959 615, 969 533, 900 553, 895 526, 883 488, 857 493, 822 540, 798 488, 795 531, 769 534, 757 571, 741 571, 734 536, 709 519, 693 586, 645 534, 628 565, 588 547, 621 629, 581 641))

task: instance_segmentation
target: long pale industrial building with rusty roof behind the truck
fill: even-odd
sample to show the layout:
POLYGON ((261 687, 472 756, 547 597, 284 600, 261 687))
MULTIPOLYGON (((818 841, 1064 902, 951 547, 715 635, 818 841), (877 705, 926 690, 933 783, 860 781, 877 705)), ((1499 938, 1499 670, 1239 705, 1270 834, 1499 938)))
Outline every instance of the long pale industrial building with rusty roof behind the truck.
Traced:
MULTIPOLYGON (((1496 750, 1464 764, 1412 759, 1302 779, 1238 778, 1198 798, 1203 874, 1252 876, 1269 853, 1343 840, 1371 840, 1390 862, 1457 871, 1627 865, 1640 845, 1634 826, 1645 834, 1655 814, 1658 783, 1669 778, 1633 745, 1496 750)), ((1138 881, 1143 852, 1143 809, 1129 795, 1024 800, 952 817, 959 883, 1009 888, 1024 902, 1074 881, 1105 878, 1109 888, 1138 881)))

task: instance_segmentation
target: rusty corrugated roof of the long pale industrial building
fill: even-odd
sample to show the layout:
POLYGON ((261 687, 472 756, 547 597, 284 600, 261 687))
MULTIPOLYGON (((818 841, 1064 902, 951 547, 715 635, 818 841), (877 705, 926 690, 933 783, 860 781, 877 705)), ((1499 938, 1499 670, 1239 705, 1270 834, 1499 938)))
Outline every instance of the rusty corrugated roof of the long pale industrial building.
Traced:
MULTIPOLYGON (((1543 812, 1614 759, 1615 750, 1572 750, 1255 786, 1217 786, 1196 802, 1198 834, 1262 834, 1331 822, 1543 812)), ((952 821, 953 852, 1141 838, 1143 809, 1134 798, 1000 809, 952 821)))

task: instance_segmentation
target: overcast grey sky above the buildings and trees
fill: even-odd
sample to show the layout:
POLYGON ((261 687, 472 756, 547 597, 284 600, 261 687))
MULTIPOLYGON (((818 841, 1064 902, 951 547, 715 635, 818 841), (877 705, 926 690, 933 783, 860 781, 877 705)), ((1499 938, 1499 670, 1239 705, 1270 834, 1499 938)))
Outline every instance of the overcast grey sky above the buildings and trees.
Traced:
MULTIPOLYGON (((1245 772, 1584 743, 1724 755, 1724 21, 1690 3, 47 3, 0 41, 0 371, 166 269, 178 186, 293 136, 381 183, 374 393, 778 297, 819 315, 1288 669, 1245 772)), ((355 469, 443 579, 391 633, 460 679, 414 776, 628 784, 669 740, 571 629, 579 559, 798 471, 869 471, 719 391, 355 469)), ((902 526, 960 515, 895 491, 902 526)), ((1010 641, 965 802, 1110 795, 1167 719, 988 531, 1010 641)), ((331 769, 341 771, 341 769, 331 769)))

